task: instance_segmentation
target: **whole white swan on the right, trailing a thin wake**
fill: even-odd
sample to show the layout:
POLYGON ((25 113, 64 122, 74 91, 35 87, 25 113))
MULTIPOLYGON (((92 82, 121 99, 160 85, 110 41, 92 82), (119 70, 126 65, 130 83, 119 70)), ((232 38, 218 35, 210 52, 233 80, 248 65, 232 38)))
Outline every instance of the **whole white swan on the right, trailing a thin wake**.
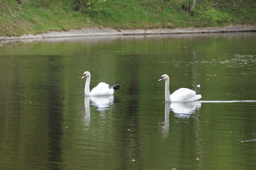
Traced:
POLYGON ((162 75, 158 80, 165 80, 165 102, 191 102, 197 101, 202 96, 201 94, 196 95, 196 91, 187 88, 177 89, 171 95, 169 95, 169 77, 167 74, 162 75))

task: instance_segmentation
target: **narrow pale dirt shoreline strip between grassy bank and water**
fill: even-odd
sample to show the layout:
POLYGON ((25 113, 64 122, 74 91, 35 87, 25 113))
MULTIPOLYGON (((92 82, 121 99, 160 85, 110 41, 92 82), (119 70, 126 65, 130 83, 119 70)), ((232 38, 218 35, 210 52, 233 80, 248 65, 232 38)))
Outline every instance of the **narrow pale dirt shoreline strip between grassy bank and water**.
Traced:
POLYGON ((232 33, 232 32, 254 32, 256 26, 223 26, 223 27, 207 27, 207 28, 175 28, 175 29, 136 29, 136 30, 115 30, 112 28, 83 28, 81 30, 69 31, 49 31, 38 35, 22 35, 20 37, 4 37, 1 40, 24 40, 38 38, 67 38, 67 37, 84 37, 99 35, 153 35, 153 34, 182 34, 182 33, 232 33))

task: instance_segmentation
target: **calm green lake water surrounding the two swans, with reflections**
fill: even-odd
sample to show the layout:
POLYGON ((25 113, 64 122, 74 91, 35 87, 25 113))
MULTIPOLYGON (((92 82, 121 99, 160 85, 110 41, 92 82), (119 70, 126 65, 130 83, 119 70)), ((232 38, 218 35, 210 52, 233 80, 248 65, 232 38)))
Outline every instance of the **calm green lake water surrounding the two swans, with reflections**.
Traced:
POLYGON ((255 169, 255 75, 256 33, 2 44, 0 169, 255 169), (121 89, 84 98, 85 71, 121 89), (165 103, 162 74, 201 102, 165 103))

